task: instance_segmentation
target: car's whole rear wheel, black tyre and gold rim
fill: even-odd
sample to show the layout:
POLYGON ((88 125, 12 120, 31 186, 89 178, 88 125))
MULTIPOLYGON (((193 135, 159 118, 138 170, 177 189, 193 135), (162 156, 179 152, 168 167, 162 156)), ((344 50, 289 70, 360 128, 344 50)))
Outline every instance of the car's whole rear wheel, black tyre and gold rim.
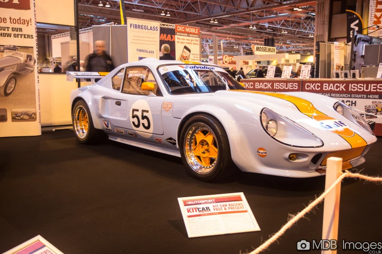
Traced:
POLYGON ((73 130, 82 144, 96 144, 105 139, 106 133, 96 129, 86 102, 79 100, 72 112, 73 130))

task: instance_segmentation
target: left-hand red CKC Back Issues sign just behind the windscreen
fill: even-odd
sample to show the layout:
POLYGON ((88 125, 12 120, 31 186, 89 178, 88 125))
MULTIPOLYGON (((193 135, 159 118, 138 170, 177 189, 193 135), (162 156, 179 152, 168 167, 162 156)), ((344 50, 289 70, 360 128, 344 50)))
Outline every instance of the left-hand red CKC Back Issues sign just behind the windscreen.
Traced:
MULTIPOLYGON (((268 71, 269 72, 269 71, 268 71)), ((240 80, 245 85, 246 90, 268 91, 268 92, 287 92, 301 91, 301 80, 298 79, 260 79, 245 78, 240 80)))

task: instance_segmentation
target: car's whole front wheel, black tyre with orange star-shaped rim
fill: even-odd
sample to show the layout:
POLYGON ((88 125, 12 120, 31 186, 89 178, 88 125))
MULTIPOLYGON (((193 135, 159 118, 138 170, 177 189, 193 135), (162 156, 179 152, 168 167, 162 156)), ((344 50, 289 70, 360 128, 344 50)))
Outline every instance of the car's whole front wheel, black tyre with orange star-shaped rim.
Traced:
POLYGON ((201 181, 222 180, 235 172, 227 133, 208 115, 195 115, 181 131, 181 158, 187 173, 201 181))

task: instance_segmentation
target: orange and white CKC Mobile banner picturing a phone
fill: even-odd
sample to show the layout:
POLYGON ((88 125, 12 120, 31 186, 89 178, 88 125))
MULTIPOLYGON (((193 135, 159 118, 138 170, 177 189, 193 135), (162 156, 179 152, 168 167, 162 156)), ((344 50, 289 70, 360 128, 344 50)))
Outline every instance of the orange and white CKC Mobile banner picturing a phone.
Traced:
POLYGON ((200 61, 200 28, 175 25, 175 54, 181 61, 200 61))

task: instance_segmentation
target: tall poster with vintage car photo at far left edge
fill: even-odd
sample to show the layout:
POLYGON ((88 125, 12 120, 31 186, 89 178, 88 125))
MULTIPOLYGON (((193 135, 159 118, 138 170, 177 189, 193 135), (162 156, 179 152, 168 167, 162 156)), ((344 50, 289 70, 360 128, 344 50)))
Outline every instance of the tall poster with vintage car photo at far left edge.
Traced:
POLYGON ((0 1, 0 137, 41 134, 35 0, 0 1))

